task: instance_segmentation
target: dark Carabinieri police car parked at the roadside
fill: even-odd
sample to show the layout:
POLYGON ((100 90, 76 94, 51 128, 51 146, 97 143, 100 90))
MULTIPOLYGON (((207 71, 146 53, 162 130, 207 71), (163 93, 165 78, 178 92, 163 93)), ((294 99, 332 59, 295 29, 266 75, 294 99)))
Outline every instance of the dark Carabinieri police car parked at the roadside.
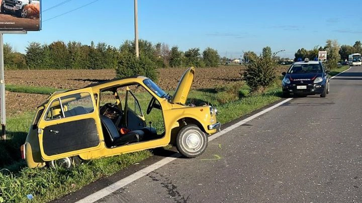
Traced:
POLYGON ((329 93, 329 70, 319 61, 294 62, 284 75, 282 81, 283 96, 290 94, 314 95, 325 97, 329 93))

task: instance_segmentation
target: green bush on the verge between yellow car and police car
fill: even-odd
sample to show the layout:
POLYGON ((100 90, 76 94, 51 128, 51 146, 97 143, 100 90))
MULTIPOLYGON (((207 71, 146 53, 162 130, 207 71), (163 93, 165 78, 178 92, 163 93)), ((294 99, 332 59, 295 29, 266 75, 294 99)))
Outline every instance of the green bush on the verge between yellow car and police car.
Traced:
POLYGON ((245 71, 240 71, 251 92, 263 92, 277 78, 277 62, 270 57, 257 57, 246 65, 245 71))

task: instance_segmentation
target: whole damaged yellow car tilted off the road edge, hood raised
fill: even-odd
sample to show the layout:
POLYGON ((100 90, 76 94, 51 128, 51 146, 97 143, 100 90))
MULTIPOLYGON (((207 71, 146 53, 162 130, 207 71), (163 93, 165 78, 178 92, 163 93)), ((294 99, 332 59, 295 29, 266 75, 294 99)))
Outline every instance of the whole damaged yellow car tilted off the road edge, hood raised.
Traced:
POLYGON ((195 68, 187 69, 173 96, 144 76, 54 92, 38 107, 22 156, 31 168, 69 168, 81 160, 172 144, 185 157, 197 157, 220 123, 213 106, 187 104, 194 76, 195 68), (152 114, 162 119, 154 122, 152 114))

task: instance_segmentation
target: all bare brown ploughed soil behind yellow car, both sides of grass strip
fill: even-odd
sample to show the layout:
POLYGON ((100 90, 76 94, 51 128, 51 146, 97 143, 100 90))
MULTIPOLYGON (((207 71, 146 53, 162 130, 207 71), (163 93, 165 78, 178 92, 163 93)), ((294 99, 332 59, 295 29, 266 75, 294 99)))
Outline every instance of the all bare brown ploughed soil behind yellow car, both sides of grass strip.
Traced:
MULTIPOLYGON (((213 88, 230 84, 240 79, 240 70, 245 66, 220 66, 196 68, 193 89, 213 88)), ((158 81, 162 89, 172 91, 187 68, 158 69, 158 81)), ((285 71, 282 67, 278 72, 285 71)), ((6 70, 6 84, 76 89, 102 80, 113 79, 115 70, 6 70)), ((43 103, 48 95, 6 92, 7 115, 32 111, 43 103)))

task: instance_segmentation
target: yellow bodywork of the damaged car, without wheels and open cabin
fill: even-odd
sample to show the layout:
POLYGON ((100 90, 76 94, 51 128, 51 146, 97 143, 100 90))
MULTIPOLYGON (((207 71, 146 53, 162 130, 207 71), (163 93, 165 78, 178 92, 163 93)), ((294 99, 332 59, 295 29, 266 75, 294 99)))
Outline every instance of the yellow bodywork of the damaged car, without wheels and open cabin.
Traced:
MULTIPOLYGON (((211 106, 186 105, 194 75, 195 68, 189 68, 179 81, 174 97, 170 99, 157 95, 157 91, 144 83, 148 78, 143 76, 115 79, 76 90, 53 93, 38 107, 27 136, 24 146, 28 166, 42 167, 47 161, 65 157, 79 156, 87 160, 167 146, 172 142, 172 132, 177 132, 186 123, 199 126, 208 135, 215 133, 217 129, 209 127, 215 125, 215 128, 220 128, 220 125, 217 125, 216 112, 211 106), (128 84, 143 86, 158 101, 163 116, 164 134, 152 140, 109 147, 105 141, 106 131, 100 115, 99 95, 104 89, 128 84), (87 104, 88 108, 83 108, 87 109, 87 112, 66 115, 76 109, 72 110, 71 103, 74 101, 75 104, 80 104, 80 99, 87 99, 88 103, 84 101, 84 104, 87 104)), ((121 105, 119 101, 117 105, 121 105)), ((142 116, 137 118, 144 121, 142 116)))

